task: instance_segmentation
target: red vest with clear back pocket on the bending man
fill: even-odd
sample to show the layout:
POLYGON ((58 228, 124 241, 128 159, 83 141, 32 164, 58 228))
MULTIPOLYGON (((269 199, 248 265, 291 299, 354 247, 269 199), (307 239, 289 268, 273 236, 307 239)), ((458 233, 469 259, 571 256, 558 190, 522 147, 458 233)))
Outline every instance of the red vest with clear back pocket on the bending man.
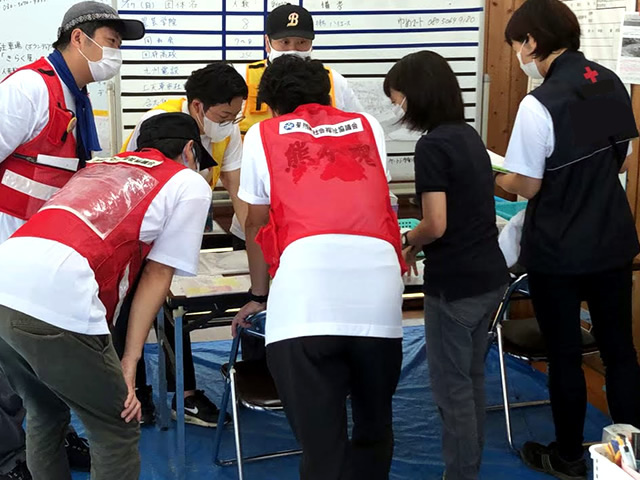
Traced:
POLYGON ((185 168, 157 150, 93 159, 12 237, 54 240, 85 257, 111 325, 152 246, 139 240, 145 213, 185 168))

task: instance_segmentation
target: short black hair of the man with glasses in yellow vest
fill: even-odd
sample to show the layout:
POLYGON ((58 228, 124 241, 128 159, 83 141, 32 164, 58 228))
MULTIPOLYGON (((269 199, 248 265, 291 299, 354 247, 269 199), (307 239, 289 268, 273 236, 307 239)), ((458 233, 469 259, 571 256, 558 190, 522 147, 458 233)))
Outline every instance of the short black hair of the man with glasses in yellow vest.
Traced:
POLYGON ((227 62, 213 62, 191 73, 184 84, 187 101, 200 100, 205 111, 214 105, 247 98, 249 89, 242 75, 227 62))

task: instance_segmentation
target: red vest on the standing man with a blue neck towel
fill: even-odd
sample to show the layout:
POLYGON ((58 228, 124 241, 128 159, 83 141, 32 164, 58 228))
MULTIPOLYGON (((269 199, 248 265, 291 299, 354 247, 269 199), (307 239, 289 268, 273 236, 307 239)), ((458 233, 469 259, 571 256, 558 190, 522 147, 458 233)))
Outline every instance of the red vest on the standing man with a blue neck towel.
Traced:
POLYGON ((28 220, 69 181, 78 169, 78 160, 76 140, 67 131, 74 115, 67 110, 53 67, 40 58, 16 71, 20 70, 40 74, 49 91, 49 123, 0 163, 0 212, 28 220))

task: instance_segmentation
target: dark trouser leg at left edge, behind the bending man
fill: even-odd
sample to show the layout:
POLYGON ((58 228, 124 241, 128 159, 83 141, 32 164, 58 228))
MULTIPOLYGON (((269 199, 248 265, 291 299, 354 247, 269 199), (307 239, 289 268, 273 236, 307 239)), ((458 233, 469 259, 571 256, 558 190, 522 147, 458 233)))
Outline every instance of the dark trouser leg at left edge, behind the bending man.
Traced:
POLYGON ((22 400, 11 388, 0 365, 0 475, 25 461, 25 437, 22 429, 25 411, 22 400))

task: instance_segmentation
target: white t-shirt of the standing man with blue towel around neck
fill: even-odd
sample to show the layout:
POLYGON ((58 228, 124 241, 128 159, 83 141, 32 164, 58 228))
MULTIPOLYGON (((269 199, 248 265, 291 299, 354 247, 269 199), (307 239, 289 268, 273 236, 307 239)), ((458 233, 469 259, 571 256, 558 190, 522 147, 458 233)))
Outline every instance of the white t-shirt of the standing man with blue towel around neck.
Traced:
MULTIPOLYGON (((67 109, 75 112, 73 94, 60 83, 67 109)), ((39 73, 21 70, 0 83, 0 162, 36 138, 48 123, 49 90, 39 73)), ((0 243, 23 224, 24 220, 0 212, 0 243)))

